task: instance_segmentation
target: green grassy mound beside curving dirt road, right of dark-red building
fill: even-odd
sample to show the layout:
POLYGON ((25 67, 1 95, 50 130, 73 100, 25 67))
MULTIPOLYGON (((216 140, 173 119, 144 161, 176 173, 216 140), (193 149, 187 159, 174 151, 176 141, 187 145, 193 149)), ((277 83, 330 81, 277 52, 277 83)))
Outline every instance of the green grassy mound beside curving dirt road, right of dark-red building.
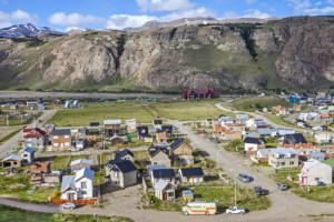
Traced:
POLYGON ((236 100, 230 105, 236 110, 254 112, 263 108, 272 108, 278 104, 289 107, 291 104, 283 99, 276 97, 246 97, 236 100))

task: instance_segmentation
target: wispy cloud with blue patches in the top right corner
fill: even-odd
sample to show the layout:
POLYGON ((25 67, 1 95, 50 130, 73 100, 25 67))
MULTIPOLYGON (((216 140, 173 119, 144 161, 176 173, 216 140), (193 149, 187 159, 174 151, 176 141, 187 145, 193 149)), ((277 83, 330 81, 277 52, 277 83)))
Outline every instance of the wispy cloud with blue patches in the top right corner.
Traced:
POLYGON ((318 14, 333 14, 334 13, 334 0, 326 0, 325 3, 330 4, 323 8, 322 1, 311 2, 311 0, 287 0, 288 6, 294 9, 295 13, 318 16, 318 14))

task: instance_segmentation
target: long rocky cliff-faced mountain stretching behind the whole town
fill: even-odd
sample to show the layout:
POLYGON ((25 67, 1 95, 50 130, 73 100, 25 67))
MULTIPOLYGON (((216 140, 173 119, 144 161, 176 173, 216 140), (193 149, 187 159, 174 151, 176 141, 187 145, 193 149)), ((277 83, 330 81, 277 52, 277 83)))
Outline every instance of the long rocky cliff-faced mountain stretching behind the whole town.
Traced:
POLYGON ((0 89, 334 87, 334 17, 0 39, 0 89))

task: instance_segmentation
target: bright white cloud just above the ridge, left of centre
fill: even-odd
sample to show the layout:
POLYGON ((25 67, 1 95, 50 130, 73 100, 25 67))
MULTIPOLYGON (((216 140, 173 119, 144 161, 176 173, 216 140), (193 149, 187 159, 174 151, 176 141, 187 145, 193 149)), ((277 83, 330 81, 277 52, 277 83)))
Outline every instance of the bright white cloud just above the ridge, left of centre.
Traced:
POLYGON ((131 16, 131 14, 112 14, 107 21, 107 29, 125 29, 128 27, 137 28, 141 27, 148 21, 157 20, 156 17, 150 16, 131 16))

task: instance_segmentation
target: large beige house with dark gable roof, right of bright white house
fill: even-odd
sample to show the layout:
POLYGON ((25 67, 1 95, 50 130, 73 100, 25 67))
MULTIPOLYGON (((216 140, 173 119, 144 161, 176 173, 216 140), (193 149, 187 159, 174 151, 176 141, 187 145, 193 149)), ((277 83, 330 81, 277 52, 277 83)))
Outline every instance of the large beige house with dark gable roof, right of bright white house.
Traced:
POLYGON ((130 160, 109 161, 106 175, 109 176, 111 185, 127 188, 137 183, 137 168, 130 160))

